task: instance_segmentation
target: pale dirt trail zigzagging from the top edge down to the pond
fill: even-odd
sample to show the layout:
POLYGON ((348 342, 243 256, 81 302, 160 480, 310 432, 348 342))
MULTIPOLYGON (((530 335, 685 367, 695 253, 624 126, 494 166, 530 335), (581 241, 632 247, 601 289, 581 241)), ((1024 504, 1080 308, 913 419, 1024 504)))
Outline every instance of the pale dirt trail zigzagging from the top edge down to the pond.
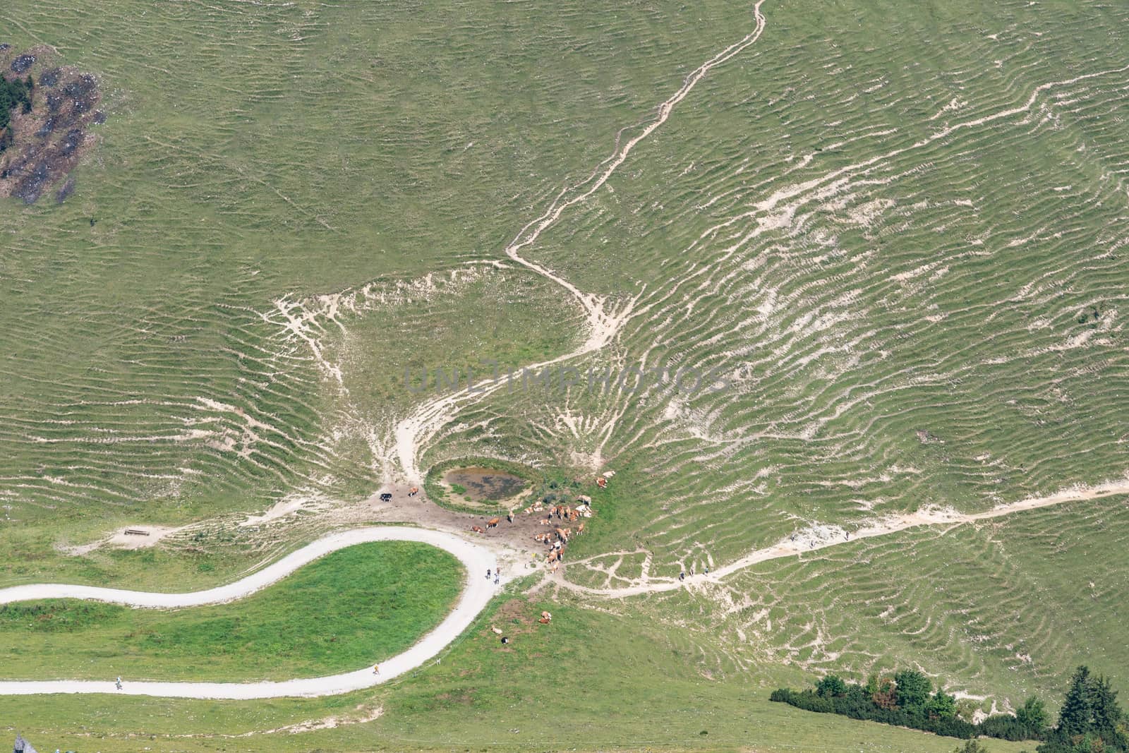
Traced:
MULTIPOLYGON (((607 182, 612 174, 614 174, 615 170, 627 160, 636 145, 649 137, 656 129, 667 121, 671 113, 674 112, 675 105, 686 98, 694 86, 701 81, 707 73, 709 73, 710 69, 730 60, 760 38, 761 34, 764 32, 765 25, 764 15, 761 12, 762 5, 764 5, 764 0, 758 0, 758 2, 753 6, 753 17, 756 25, 752 32, 746 34, 738 42, 729 45, 707 60, 704 63, 694 69, 689 76, 686 76, 685 79, 683 79, 682 87, 679 88, 679 90, 675 91, 669 98, 658 105, 657 116, 638 134, 621 142, 623 133, 629 128, 636 126, 621 129, 620 132, 615 134, 616 147, 612 155, 602 161, 587 178, 576 185, 562 189, 545 211, 540 217, 523 227, 509 245, 506 246, 505 253, 510 260, 560 286, 574 298, 576 298, 587 314, 588 319, 588 335, 580 347, 571 352, 558 356, 557 358, 526 366, 526 369, 534 371, 541 370, 545 367, 603 349, 612 342, 615 335, 622 330, 623 325, 631 318, 632 308, 634 307, 634 303, 638 300, 638 297, 628 300, 614 310, 607 310, 607 301, 603 297, 581 291, 575 284, 561 278, 546 266, 525 259, 519 252, 523 248, 536 243, 537 238, 541 237, 541 234, 555 225, 566 210, 570 207, 584 203, 593 194, 595 194, 596 191, 598 191, 607 182)), ((435 437, 436 434, 439 432, 443 426, 454 419, 458 410, 464 405, 482 400, 487 395, 500 389, 505 386, 505 382, 495 380, 492 383, 482 384, 481 388, 475 392, 467 391, 465 393, 435 397, 417 406, 411 415, 404 418, 396 424, 394 432, 395 454, 400 461, 401 470, 410 483, 420 483, 422 481, 423 474, 418 466, 420 450, 432 437, 435 437)))

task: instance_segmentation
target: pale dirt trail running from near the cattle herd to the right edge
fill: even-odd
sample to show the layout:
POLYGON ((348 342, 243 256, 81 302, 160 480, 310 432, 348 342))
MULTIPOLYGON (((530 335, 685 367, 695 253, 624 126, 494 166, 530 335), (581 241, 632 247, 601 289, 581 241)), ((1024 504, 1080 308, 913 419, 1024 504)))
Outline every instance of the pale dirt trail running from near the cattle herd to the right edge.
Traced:
MULTIPOLYGON (((799 557, 804 553, 816 552, 823 549, 829 549, 831 546, 840 546, 843 544, 850 544, 860 539, 874 539, 877 536, 887 536, 895 534, 907 528, 916 528, 918 526, 949 526, 955 527, 960 525, 965 525, 970 523, 978 523, 980 520, 990 520, 992 518, 1005 517, 1013 515, 1015 513, 1022 513, 1025 510, 1035 510, 1044 507, 1054 507, 1057 505, 1064 505, 1066 502, 1080 502, 1092 499, 1101 499, 1103 497, 1113 497, 1117 494, 1129 494, 1129 479, 1121 479, 1119 481, 1111 481, 1108 483, 1100 484, 1097 487, 1089 487, 1086 489, 1066 489, 1048 497, 1032 497, 1029 499, 1023 499, 1017 502, 1009 502, 1006 505, 998 505, 989 510, 982 513, 957 513, 952 508, 933 508, 933 509, 921 509, 913 513, 907 513, 904 515, 896 515, 889 518, 883 518, 870 525, 864 526, 856 531, 850 532, 847 536, 847 532, 843 532, 842 539, 832 539, 826 541, 811 541, 807 545, 803 543, 796 543, 791 540, 780 541, 772 546, 767 546, 764 549, 758 549, 750 552, 745 557, 738 560, 734 560, 728 564, 724 564, 716 570, 710 571, 709 575, 699 573, 690 576, 684 581, 680 581, 677 578, 662 578, 662 579, 650 579, 649 577, 644 577, 639 583, 631 586, 623 586, 622 588, 592 588, 588 586, 580 586, 575 583, 570 583, 564 579, 564 570, 560 570, 553 577, 548 578, 545 581, 537 584, 534 588, 540 588, 545 585, 545 583, 552 583, 555 586, 567 588, 569 590, 578 592, 581 594, 588 594, 590 596, 604 596, 610 598, 623 598, 628 596, 640 596, 644 594, 657 594, 663 592, 676 590, 682 587, 689 587, 694 585, 703 584, 720 584, 726 577, 732 576, 739 570, 744 570, 759 562, 765 562, 768 560, 777 560, 786 557, 799 557)), ((607 557, 607 553, 601 554, 599 557, 607 557)), ((581 563, 586 560, 577 560, 575 563, 581 563)))

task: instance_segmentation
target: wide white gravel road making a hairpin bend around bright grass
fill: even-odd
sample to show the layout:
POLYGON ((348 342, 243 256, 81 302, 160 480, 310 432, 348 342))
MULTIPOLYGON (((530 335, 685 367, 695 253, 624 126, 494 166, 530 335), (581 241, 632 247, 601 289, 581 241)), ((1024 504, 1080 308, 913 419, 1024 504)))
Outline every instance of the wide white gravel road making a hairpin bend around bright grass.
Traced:
MULTIPOLYGON (((454 554, 466 568, 466 585, 458 603, 439 625, 403 654, 380 662, 380 674, 373 674, 368 665, 357 672, 325 677, 287 680, 283 682, 134 682, 123 678, 122 690, 114 688, 113 678, 105 682, 88 680, 0 681, 0 695, 29 695, 36 693, 122 693, 128 695, 160 695, 167 698, 282 698, 315 697, 348 693, 370 688, 404 674, 435 657, 460 633, 498 593, 493 581, 483 577, 487 568, 497 569, 495 554, 454 534, 406 526, 371 526, 342 531, 303 546, 259 572, 226 586, 190 594, 159 594, 95 586, 65 584, 34 584, 0 589, 0 604, 37 598, 87 598, 139 607, 178 607, 200 604, 219 604, 243 598, 290 575, 304 564, 335 552, 339 549, 374 541, 414 541, 431 544, 454 554)), ((508 580, 508 578, 507 578, 508 580)))

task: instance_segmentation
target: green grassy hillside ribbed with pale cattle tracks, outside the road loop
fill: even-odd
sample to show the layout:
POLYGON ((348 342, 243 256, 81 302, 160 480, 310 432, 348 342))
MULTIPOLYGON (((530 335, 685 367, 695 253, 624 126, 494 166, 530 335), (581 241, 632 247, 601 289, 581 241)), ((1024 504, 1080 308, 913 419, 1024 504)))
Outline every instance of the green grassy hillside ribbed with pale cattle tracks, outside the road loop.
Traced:
MULTIPOLYGON (((498 391, 420 435, 425 470, 614 469, 572 583, 1124 480, 1129 8, 762 11, 755 43, 522 249, 545 274, 506 245, 751 33, 750 5, 0 10, 5 41, 98 71, 110 114, 71 200, 0 207, 0 585, 202 585, 292 548, 316 526, 263 543, 217 524, 199 558, 61 551, 138 520, 370 493, 402 470, 397 422, 435 397, 405 391, 405 368, 584 343, 580 298, 551 275, 622 314, 570 366, 724 382, 498 391)), ((204 718, 235 735, 377 708, 239 745, 948 751, 768 691, 917 665, 1000 704, 1050 701, 1082 662, 1126 688, 1124 505, 844 542, 704 592, 540 592, 522 608, 566 634, 499 651, 483 622, 441 667, 341 699, 10 708, 64 739, 72 719, 117 735, 106 751, 204 718)))

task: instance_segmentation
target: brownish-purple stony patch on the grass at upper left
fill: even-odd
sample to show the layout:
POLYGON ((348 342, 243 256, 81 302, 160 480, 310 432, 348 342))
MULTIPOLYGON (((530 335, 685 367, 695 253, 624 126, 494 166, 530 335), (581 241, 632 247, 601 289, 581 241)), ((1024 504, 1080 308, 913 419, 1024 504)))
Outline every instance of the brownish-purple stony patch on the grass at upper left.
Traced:
POLYGON ((105 121, 97 78, 58 65, 58 56, 45 45, 17 52, 0 44, 0 75, 33 81, 30 112, 17 107, 0 131, 0 198, 30 204, 54 191, 64 201, 75 190, 71 170, 96 140, 90 126, 105 121))

